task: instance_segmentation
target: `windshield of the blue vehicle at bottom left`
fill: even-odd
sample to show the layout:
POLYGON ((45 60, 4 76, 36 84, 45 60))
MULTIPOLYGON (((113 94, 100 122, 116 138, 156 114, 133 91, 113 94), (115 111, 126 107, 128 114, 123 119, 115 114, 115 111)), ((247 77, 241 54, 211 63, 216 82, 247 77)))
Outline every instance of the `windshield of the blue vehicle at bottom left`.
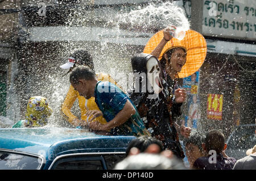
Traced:
POLYGON ((0 170, 37 170, 42 161, 30 155, 0 151, 0 170))

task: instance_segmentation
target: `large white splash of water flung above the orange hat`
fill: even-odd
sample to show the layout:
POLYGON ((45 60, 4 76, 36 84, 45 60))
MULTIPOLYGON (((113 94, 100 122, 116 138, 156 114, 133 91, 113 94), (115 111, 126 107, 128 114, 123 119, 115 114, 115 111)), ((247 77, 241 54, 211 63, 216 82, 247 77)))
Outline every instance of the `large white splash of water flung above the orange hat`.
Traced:
POLYGON ((174 3, 165 2, 160 4, 151 3, 144 9, 134 10, 126 14, 117 15, 119 23, 127 23, 131 28, 139 27, 139 30, 154 32, 156 28, 176 26, 181 30, 187 31, 190 27, 187 17, 181 7, 174 3), (158 27, 155 27, 158 24, 158 27))

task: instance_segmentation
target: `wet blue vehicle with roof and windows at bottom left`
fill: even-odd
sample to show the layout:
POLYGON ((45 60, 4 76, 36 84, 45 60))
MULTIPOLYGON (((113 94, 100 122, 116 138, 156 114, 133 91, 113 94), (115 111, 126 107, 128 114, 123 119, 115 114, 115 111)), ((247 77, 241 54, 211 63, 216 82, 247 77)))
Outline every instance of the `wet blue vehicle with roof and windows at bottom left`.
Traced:
POLYGON ((75 128, 2 128, 0 169, 113 169, 134 138, 75 128))

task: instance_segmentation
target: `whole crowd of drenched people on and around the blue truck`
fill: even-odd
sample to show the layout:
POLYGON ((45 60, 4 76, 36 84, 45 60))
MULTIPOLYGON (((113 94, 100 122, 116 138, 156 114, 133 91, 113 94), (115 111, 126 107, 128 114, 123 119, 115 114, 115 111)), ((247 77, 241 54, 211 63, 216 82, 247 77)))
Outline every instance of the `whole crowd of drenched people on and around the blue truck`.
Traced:
MULTIPOLYGON (((76 128, 137 137, 127 148, 127 158, 118 163, 116 169, 185 169, 182 162, 185 154, 190 169, 248 168, 244 166, 247 160, 250 163, 254 160, 255 165, 254 153, 238 162, 225 155, 225 138, 221 132, 210 131, 204 138, 191 132, 190 127, 177 124, 187 96, 177 82, 187 63, 187 48, 175 45, 164 49, 173 38, 170 33, 175 31, 173 28, 161 32, 162 39, 150 53, 135 54, 131 58, 134 86, 130 90, 122 90, 110 75, 96 73, 92 55, 87 50, 73 52, 68 62, 60 66, 68 69, 71 83, 61 112, 76 128), (79 100, 81 119, 71 112, 76 99, 79 100), (185 153, 180 136, 185 138, 185 153), (216 154, 212 162, 211 150, 216 154)), ((28 101, 26 119, 13 127, 46 125, 51 112, 46 98, 33 96, 28 101)))

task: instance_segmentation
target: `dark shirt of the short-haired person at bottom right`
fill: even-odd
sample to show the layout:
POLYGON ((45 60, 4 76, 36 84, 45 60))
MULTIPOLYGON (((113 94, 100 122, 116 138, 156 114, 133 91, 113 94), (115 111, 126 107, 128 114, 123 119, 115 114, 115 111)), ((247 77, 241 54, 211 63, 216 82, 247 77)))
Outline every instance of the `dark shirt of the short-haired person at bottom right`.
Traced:
POLYGON ((216 156, 216 163, 210 163, 209 159, 211 161, 211 155, 208 155, 207 157, 200 157, 197 158, 194 162, 194 169, 198 170, 233 170, 233 167, 236 163, 236 159, 232 157, 223 157, 223 155, 217 154, 216 156))

